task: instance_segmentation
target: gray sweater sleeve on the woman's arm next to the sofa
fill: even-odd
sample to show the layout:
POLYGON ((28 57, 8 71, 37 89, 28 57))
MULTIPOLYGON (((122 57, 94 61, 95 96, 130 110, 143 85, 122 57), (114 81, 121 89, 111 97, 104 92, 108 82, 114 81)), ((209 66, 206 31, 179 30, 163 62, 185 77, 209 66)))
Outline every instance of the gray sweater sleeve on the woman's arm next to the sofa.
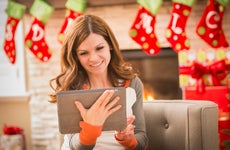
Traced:
POLYGON ((136 116, 134 125, 136 126, 134 129, 134 134, 137 140, 136 150, 146 149, 148 145, 148 137, 146 135, 146 126, 145 126, 145 118, 144 118, 144 110, 143 110, 143 84, 142 81, 136 77, 131 81, 130 87, 135 89, 136 91, 136 102, 134 103, 132 109, 133 114, 136 116))

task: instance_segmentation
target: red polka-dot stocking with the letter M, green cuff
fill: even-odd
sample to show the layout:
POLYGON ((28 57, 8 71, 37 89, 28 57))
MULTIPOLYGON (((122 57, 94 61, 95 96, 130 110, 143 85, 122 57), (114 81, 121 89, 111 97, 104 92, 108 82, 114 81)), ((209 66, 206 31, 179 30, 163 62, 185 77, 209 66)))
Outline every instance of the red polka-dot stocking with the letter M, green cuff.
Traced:
POLYGON ((160 46, 155 35, 155 15, 162 4, 162 0, 138 0, 140 8, 132 24, 129 35, 141 45, 148 55, 159 53, 160 46))

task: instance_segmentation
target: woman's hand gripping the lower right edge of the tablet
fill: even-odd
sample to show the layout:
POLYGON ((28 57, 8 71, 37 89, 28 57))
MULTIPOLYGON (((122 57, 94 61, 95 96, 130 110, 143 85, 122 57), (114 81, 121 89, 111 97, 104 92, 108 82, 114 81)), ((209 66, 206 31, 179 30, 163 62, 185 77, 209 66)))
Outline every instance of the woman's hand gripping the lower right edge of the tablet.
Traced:
POLYGON ((115 131, 115 137, 118 141, 129 141, 134 137, 134 128, 133 121, 135 120, 135 116, 132 115, 127 118, 127 127, 121 131, 115 131))

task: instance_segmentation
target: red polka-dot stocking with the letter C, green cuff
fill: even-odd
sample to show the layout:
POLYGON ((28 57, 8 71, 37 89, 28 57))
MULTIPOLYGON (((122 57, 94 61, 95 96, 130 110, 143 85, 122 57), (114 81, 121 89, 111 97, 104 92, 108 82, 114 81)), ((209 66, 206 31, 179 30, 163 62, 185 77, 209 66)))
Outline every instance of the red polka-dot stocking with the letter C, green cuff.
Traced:
POLYGON ((222 20, 226 0, 209 0, 200 22, 197 25, 196 33, 207 44, 213 48, 228 47, 224 32, 222 30, 222 20))

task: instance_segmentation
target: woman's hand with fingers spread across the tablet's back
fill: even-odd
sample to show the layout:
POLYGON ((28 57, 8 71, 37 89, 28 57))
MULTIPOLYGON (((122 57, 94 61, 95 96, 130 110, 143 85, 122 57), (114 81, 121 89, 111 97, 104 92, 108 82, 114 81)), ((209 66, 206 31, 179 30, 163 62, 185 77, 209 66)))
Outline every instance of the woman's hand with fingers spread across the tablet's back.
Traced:
POLYGON ((76 101, 76 107, 80 111, 83 120, 91 125, 103 125, 111 114, 121 108, 121 105, 115 106, 120 97, 117 96, 110 102, 113 94, 114 90, 106 90, 89 109, 86 109, 80 102, 76 101))

